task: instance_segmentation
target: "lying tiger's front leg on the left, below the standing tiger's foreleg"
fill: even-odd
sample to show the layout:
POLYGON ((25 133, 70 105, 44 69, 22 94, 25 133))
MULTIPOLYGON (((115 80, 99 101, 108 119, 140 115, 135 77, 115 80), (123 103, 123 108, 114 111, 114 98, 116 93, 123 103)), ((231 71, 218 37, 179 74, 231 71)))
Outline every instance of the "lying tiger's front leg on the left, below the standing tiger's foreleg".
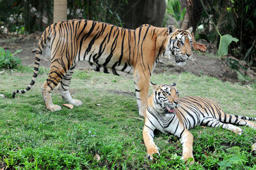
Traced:
POLYGON ((146 123, 143 128, 143 141, 147 148, 147 157, 150 160, 154 159, 153 154, 157 153, 158 155, 160 155, 159 148, 154 143, 154 127, 148 127, 146 126, 146 123))

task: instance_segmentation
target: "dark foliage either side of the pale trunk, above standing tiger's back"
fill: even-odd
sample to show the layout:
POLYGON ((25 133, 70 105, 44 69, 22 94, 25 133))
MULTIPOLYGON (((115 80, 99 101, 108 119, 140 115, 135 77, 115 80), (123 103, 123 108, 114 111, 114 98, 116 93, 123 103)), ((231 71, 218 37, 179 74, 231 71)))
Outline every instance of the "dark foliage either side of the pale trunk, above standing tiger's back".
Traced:
MULTIPOLYGON (((67 0, 67 19, 99 20, 122 26, 118 13, 125 4, 127 0, 67 0)), ((0 8, 0 33, 33 33, 44 31, 52 24, 53 1, 3 0, 0 1, 0 8)))

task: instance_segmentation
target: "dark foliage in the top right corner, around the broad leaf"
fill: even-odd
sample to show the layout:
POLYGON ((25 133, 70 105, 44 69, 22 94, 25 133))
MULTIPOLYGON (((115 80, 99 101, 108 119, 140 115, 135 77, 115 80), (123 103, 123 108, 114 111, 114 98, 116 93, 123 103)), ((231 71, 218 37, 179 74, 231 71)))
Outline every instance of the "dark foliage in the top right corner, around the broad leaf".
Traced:
POLYGON ((198 23, 204 26, 204 29, 199 34, 204 35, 204 38, 210 38, 211 43, 218 46, 219 33, 212 29, 212 24, 217 24, 221 35, 232 35, 239 39, 238 43, 230 43, 228 53, 237 59, 244 60, 249 66, 256 66, 255 1, 209 0, 204 2, 206 10, 198 23), (249 49, 250 52, 246 55, 249 49))

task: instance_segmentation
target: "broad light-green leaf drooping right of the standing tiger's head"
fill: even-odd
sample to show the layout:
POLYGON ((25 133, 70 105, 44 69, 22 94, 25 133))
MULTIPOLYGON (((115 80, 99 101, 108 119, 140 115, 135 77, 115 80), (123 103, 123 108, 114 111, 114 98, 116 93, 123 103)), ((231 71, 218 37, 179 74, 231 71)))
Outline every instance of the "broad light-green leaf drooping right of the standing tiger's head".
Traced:
POLYGON ((219 49, 218 49, 218 56, 223 57, 228 54, 228 45, 231 42, 238 42, 238 39, 234 38, 231 35, 220 36, 220 45, 219 45, 219 49))

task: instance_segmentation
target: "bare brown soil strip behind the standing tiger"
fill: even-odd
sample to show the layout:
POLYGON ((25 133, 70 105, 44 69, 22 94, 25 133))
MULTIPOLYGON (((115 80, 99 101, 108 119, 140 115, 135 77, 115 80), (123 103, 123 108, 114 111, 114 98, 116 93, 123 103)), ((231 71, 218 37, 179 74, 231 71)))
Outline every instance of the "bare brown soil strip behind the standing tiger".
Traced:
MULTIPOLYGON (((33 67, 35 61, 35 52, 38 39, 41 33, 33 33, 31 35, 19 35, 19 36, 1 36, 0 37, 0 47, 10 50, 10 52, 15 52, 18 49, 22 49, 21 52, 15 56, 19 56, 22 59, 22 65, 33 67)), ((224 61, 215 57, 209 57, 204 55, 204 53, 195 52, 195 61, 188 61, 184 66, 177 66, 172 61, 167 58, 161 59, 157 63, 154 73, 181 73, 181 72, 191 72, 195 75, 208 75, 210 77, 217 77, 222 81, 239 82, 237 78, 237 73, 231 70, 224 61)), ((42 57, 40 66, 45 66, 49 68, 51 59, 49 57, 42 57)), ((86 61, 81 61, 77 64, 77 69, 84 70, 90 69, 90 66, 86 61)))

